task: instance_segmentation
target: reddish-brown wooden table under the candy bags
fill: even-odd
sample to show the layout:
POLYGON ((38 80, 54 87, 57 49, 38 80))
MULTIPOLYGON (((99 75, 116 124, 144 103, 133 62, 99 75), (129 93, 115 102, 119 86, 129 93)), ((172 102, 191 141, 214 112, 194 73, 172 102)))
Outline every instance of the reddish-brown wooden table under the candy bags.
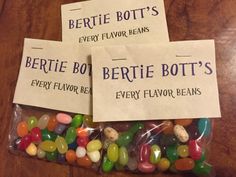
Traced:
MULTIPOLYGON (((0 177, 99 176, 89 170, 15 156, 7 149, 23 40, 61 40, 60 7, 71 2, 0 0, 0 177)), ((222 119, 215 121, 210 162, 217 176, 236 176, 236 1, 165 0, 165 7, 171 41, 215 39, 222 119)), ((140 175, 116 172, 102 176, 140 175)))

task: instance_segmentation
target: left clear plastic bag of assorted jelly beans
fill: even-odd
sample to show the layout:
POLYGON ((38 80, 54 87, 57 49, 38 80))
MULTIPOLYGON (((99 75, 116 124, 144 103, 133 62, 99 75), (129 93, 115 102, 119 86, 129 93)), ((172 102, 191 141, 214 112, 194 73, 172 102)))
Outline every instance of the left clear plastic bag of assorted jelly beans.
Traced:
POLYGON ((102 124, 91 116, 16 105, 10 151, 28 157, 98 169, 102 124))

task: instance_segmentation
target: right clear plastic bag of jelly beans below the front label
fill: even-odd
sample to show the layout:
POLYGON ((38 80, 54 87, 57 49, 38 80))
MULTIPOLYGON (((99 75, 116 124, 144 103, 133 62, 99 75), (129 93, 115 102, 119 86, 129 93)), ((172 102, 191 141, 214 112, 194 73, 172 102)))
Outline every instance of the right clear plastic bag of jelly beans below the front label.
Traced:
POLYGON ((212 120, 117 122, 104 127, 102 171, 215 176, 207 162, 212 120))

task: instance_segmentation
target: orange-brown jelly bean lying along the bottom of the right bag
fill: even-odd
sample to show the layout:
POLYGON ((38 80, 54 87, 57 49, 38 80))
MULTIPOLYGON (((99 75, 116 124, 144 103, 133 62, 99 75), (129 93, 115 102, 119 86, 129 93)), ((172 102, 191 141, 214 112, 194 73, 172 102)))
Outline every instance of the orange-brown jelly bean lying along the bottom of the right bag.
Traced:
POLYGON ((192 170, 194 165, 194 160, 191 158, 183 158, 175 161, 175 169, 179 171, 192 170))

